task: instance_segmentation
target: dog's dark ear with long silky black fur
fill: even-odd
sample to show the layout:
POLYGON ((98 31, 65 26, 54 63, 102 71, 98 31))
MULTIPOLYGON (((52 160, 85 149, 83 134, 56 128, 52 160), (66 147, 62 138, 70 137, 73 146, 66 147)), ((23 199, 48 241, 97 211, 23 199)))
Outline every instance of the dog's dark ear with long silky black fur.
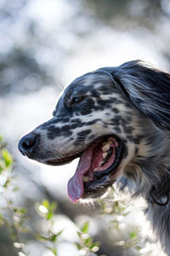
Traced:
POLYGON ((159 129, 170 130, 170 74, 129 61, 110 70, 127 102, 150 118, 159 129))

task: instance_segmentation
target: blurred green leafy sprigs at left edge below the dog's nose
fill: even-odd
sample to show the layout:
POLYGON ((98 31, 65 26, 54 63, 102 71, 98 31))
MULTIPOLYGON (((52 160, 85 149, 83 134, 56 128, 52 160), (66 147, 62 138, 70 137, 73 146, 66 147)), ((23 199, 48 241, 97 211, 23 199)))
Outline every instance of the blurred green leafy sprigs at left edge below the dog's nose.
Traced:
POLYGON ((14 182, 13 157, 5 148, 3 137, 0 136, 0 196, 4 201, 1 207, 0 225, 6 225, 10 230, 14 247, 17 248, 19 256, 25 256, 25 244, 21 241, 20 235, 27 232, 26 208, 14 205, 12 195, 18 190, 14 182), (12 193, 11 193, 12 192, 12 193))

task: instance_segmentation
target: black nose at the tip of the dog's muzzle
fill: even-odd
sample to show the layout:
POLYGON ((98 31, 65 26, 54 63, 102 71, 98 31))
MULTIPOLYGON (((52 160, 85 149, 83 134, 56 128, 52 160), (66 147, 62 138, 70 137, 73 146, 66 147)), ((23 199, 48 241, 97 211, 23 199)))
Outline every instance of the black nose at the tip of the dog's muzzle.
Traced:
POLYGON ((19 150, 22 154, 31 154, 32 149, 37 143, 37 134, 31 132, 24 137, 21 137, 19 143, 19 150))

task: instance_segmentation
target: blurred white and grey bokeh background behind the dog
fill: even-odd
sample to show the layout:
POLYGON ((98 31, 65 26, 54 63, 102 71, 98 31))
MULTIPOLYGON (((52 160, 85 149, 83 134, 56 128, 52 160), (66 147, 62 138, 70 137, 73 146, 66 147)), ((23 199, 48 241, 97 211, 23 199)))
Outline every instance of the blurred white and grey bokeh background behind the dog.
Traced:
MULTIPOLYGON (((65 230, 59 256, 83 255, 73 242, 75 224, 86 220, 90 234, 101 242, 97 255, 146 255, 147 250, 124 249, 123 242, 116 246, 126 239, 125 224, 118 232, 111 229, 111 216, 99 215, 99 204, 68 200, 67 182, 77 160, 60 167, 34 163, 18 151, 20 137, 52 117, 60 91, 82 73, 135 59, 168 72, 169 45, 169 0, 0 0, 0 133, 14 156, 20 187, 15 200, 27 208, 32 232, 45 229, 35 203, 43 198, 58 202, 56 229, 65 230)), ((0 255, 17 255, 8 232, 1 230, 0 255)), ((33 236, 24 239, 29 255, 54 255, 33 236)))

